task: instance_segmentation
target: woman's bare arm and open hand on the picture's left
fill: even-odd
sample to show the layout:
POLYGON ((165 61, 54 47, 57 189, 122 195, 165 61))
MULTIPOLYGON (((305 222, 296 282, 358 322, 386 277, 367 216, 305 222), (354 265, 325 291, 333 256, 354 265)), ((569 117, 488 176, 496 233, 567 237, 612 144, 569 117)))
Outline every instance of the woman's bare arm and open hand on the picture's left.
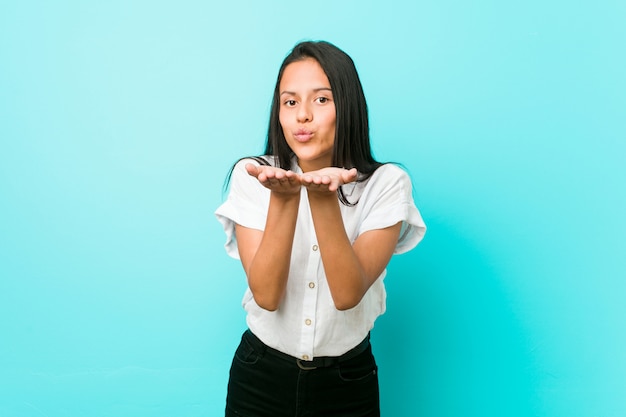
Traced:
POLYGON ((246 171, 272 192, 264 231, 235 226, 239 257, 254 300, 273 311, 287 286, 301 183, 297 174, 279 168, 248 164, 246 171))

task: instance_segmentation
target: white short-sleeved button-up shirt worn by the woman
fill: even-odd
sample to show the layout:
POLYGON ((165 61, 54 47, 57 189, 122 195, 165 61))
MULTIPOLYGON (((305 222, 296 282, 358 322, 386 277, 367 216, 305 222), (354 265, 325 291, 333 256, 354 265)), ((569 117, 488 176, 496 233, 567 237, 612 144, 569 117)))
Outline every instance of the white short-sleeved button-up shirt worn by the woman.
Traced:
MULTIPOLYGON (((269 158, 272 160, 272 158, 269 158)), ((245 170, 242 160, 235 166, 227 200, 215 215, 226 232, 226 252, 239 259, 235 223, 264 230, 270 191, 245 170)), ((295 164, 293 171, 301 173, 295 164)), ((343 186, 349 207, 340 203, 346 233, 351 242, 368 230, 382 229, 403 222, 394 253, 415 247, 426 226, 415 207, 409 176, 399 167, 386 164, 365 182, 343 186)), ((259 307, 248 288, 243 297, 250 330, 266 345, 291 356, 311 360, 318 356, 340 356, 359 344, 385 311, 383 284, 386 270, 354 308, 340 311, 333 303, 309 207, 302 188, 294 244, 285 296, 276 311, 259 307)))

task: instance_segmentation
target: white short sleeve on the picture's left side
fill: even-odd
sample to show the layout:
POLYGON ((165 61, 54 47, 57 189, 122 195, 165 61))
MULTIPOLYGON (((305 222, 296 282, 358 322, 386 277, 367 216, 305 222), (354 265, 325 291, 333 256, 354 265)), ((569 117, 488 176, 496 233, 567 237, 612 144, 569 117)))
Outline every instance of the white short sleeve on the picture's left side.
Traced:
POLYGON ((215 211, 215 216, 226 233, 226 253, 236 259, 239 259, 239 251, 235 224, 263 230, 269 205, 269 191, 256 178, 248 175, 245 169, 248 163, 258 165, 258 162, 251 159, 237 162, 230 178, 228 197, 215 211))

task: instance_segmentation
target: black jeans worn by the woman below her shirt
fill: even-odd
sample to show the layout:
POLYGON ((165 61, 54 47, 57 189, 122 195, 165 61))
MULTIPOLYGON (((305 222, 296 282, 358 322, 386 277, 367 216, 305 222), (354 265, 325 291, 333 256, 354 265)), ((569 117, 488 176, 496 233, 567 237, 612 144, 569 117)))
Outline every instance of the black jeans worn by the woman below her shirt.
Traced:
POLYGON ((230 369, 226 417, 379 417, 378 368, 367 346, 347 360, 302 369, 243 334, 230 369))

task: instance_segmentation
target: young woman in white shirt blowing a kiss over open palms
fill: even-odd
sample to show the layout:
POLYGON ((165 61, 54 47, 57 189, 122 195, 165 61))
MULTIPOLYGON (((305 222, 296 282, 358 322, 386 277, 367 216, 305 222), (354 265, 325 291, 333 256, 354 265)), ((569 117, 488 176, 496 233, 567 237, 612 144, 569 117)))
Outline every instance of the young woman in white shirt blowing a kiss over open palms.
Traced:
POLYGON ((369 331, 392 254, 425 232, 408 175, 377 162, 352 59, 327 42, 285 58, 265 155, 216 211, 248 279, 226 416, 379 416, 369 331))

